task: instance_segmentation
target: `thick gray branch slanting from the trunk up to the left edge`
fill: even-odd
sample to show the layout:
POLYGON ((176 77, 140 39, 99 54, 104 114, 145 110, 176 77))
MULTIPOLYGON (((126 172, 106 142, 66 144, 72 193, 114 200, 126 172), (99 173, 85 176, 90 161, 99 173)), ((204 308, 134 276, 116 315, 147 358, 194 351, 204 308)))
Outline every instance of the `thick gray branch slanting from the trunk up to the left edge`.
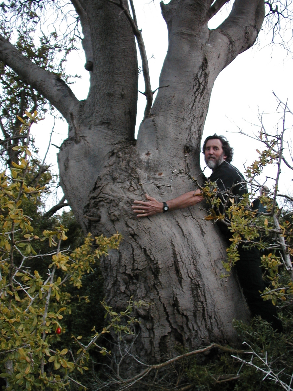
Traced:
POLYGON ((70 122, 70 112, 79 101, 63 80, 23 56, 7 39, 0 35, 0 61, 9 66, 32 88, 39 91, 70 122))

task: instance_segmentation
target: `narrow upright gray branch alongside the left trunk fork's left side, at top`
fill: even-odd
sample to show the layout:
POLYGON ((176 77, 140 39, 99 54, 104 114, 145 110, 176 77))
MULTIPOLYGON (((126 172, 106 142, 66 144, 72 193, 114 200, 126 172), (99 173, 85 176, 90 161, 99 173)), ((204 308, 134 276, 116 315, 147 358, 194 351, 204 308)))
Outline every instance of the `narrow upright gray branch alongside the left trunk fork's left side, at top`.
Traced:
POLYGON ((91 46, 91 29, 89 27, 88 15, 79 0, 71 0, 75 11, 79 15, 79 20, 84 38, 81 40, 84 54, 86 55, 86 70, 93 70, 93 48, 91 46))

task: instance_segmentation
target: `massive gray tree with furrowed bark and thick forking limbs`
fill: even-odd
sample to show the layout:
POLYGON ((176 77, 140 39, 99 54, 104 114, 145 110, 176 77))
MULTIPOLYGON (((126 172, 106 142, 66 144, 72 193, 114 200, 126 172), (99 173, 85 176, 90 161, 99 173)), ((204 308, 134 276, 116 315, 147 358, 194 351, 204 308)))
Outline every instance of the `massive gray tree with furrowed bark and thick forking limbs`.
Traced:
MULTIPOLYGON (((161 4, 169 47, 151 115, 134 140, 138 66, 134 36, 107 0, 72 1, 92 59, 88 98, 79 102, 54 75, 38 70, 0 37, 0 60, 48 97, 69 124, 59 152, 61 185, 77 220, 93 235, 120 232, 119 251, 102 261, 106 301, 117 310, 130 296, 153 303, 138 310, 140 355, 159 359, 176 341, 197 348, 236 342, 232 319, 248 310, 234 276, 220 278, 225 243, 205 213, 187 208, 138 220, 130 206, 145 192, 164 201, 192 190, 172 167, 200 175, 200 143, 218 74, 253 45, 263 0, 236 0, 217 29, 207 22, 226 1, 161 4), (89 36, 90 31, 90 36, 89 36), (25 66, 24 66, 25 65, 25 66), (50 79, 51 78, 51 79, 50 79), (59 83, 59 84, 58 84, 59 83)), ((215 129, 216 130, 216 129, 215 129)))

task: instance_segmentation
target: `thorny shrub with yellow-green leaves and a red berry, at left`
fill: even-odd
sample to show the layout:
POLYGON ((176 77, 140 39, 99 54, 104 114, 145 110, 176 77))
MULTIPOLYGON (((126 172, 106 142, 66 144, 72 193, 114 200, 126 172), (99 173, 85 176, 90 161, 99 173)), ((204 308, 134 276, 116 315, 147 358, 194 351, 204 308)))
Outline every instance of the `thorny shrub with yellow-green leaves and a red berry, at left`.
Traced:
MULTIPOLYGON (((63 251, 67 239, 66 228, 60 225, 54 230, 34 235, 29 216, 21 204, 25 199, 36 202, 45 187, 27 186, 27 174, 32 170, 28 149, 30 126, 39 120, 37 113, 26 112, 21 132, 27 137, 23 146, 14 147, 19 154, 13 162, 11 176, 0 174, 0 369, 6 380, 7 390, 55 389, 68 387, 69 382, 79 384, 71 372, 87 370, 88 347, 77 344, 77 353, 58 349, 62 334, 63 315, 68 313, 70 294, 64 283, 80 287, 82 275, 91 271, 100 256, 107 256, 109 249, 117 249, 121 236, 91 238, 72 252, 63 251), (37 253, 34 244, 48 241, 46 254, 37 253), (93 249, 95 242, 95 249, 93 249), (44 256, 52 258, 47 274, 32 270, 31 264, 44 256)), ((109 311, 109 308, 107 309, 109 311)), ((113 322, 112 322, 113 323, 113 322)), ((115 323, 115 322, 114 322, 115 323)), ((112 326, 114 326, 114 323, 112 326)), ((109 326, 108 326, 109 327, 109 326)), ((105 331, 93 335, 97 339, 105 331)), ((79 341, 80 336, 76 339, 79 341)))

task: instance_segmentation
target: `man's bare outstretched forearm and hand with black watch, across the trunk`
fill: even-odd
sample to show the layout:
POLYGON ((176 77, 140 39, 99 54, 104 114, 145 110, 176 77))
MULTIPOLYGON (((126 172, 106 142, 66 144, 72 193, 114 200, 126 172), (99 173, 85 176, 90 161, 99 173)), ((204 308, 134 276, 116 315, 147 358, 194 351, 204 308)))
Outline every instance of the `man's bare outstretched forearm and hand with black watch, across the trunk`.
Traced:
MULTIPOLYGON (((133 201, 132 209, 134 213, 137 213, 136 217, 147 217, 155 215, 157 213, 163 212, 163 202, 157 201, 155 198, 145 195, 148 201, 133 201)), ((170 201, 166 201, 170 210, 187 208, 188 206, 193 206, 200 201, 203 197, 201 195, 200 189, 196 191, 191 191, 182 195, 179 195, 177 198, 173 198, 170 201)))

